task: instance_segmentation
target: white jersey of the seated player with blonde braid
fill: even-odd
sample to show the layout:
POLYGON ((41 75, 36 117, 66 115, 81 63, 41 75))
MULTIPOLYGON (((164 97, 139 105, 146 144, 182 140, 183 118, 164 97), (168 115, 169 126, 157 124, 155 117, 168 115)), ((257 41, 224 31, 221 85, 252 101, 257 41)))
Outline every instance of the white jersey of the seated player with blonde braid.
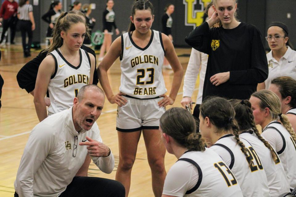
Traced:
POLYGON ((262 132, 268 132, 269 129, 274 129, 279 132, 283 140, 283 147, 281 150, 275 150, 283 164, 286 172, 290 188, 296 187, 296 144, 290 133, 280 122, 269 123, 262 132))

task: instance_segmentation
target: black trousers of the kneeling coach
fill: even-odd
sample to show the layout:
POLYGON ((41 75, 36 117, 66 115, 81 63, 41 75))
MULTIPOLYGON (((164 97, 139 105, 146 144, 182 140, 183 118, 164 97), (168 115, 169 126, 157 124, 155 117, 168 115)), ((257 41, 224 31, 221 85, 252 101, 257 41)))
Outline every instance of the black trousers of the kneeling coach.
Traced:
MULTIPOLYGON (((59 197, 124 197, 125 188, 115 180, 76 176, 59 197)), ((14 197, 19 197, 14 193, 14 197)))

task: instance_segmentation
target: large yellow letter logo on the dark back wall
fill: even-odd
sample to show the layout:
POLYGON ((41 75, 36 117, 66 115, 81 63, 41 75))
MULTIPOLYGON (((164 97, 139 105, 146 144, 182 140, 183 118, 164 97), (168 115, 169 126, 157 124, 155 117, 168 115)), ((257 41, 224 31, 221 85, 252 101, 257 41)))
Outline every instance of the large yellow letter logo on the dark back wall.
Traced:
POLYGON ((185 26, 193 26, 193 29, 203 23, 204 8, 212 2, 212 0, 199 0, 201 10, 194 10, 196 1, 183 0, 183 4, 185 5, 185 26))

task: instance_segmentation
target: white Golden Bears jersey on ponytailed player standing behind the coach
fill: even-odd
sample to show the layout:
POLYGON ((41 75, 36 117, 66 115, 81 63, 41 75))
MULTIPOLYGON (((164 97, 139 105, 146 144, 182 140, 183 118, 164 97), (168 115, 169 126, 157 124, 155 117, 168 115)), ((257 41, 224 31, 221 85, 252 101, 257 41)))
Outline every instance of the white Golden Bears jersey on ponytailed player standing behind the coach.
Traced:
POLYGON ((55 73, 48 85, 50 98, 49 114, 55 114, 73 106, 79 89, 87 85, 90 78, 90 58, 86 51, 79 50, 79 66, 70 64, 59 49, 50 52, 55 59, 55 73))

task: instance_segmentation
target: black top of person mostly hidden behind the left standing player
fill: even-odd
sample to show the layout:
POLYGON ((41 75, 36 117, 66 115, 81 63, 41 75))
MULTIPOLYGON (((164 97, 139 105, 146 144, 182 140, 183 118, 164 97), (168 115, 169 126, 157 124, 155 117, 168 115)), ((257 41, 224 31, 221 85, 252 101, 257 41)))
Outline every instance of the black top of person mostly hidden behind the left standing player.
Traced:
MULTIPOLYGON (((81 49, 86 50, 88 53, 93 54, 96 58, 95 51, 91 48, 82 45, 81 49)), ((35 83, 36 78, 38 74, 38 68, 43 61, 43 59, 46 57, 47 52, 41 51, 37 57, 32 59, 30 62, 27 62, 21 70, 19 70, 18 74, 16 75, 16 79, 19 83, 19 87, 22 89, 25 89, 28 93, 33 91, 35 89, 35 83)), ((97 65, 97 60, 95 61, 95 65, 97 65)), ((97 76, 97 69, 95 68, 95 71, 93 73, 93 80, 92 84, 96 84, 99 82, 98 76, 97 76)))

